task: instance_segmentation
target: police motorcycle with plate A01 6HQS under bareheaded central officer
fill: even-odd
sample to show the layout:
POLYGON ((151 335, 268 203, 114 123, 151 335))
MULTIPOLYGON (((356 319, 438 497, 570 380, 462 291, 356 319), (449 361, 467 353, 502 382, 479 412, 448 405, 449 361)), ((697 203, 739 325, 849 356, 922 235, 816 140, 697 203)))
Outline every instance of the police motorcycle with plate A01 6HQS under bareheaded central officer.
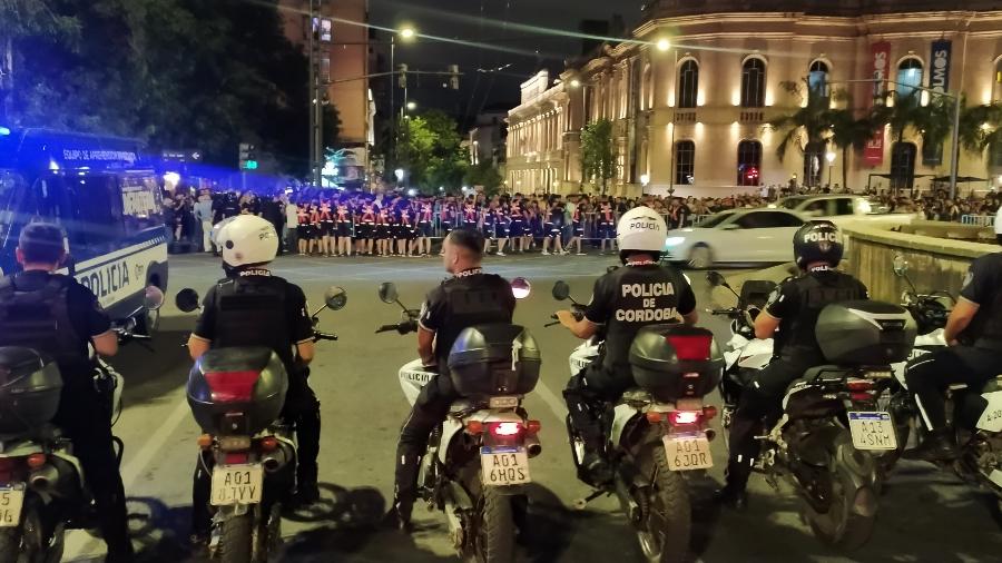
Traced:
MULTIPOLYGON (((522 299, 529 282, 515 278, 512 294, 522 299)), ((379 333, 418 330, 418 309, 409 309, 396 286, 380 286, 380 299, 401 307, 397 324, 379 333)), ((436 375, 421 359, 400 368, 400 386, 413 405, 436 375)), ((463 330, 449 355, 449 373, 463 397, 432 432, 421 461, 419 495, 429 510, 445 513, 453 546, 463 561, 503 563, 514 559, 515 516, 524 507, 524 485, 532 482, 529 460, 542 452, 539 421, 522 407, 539 381, 536 339, 521 326, 488 324, 463 330)))

